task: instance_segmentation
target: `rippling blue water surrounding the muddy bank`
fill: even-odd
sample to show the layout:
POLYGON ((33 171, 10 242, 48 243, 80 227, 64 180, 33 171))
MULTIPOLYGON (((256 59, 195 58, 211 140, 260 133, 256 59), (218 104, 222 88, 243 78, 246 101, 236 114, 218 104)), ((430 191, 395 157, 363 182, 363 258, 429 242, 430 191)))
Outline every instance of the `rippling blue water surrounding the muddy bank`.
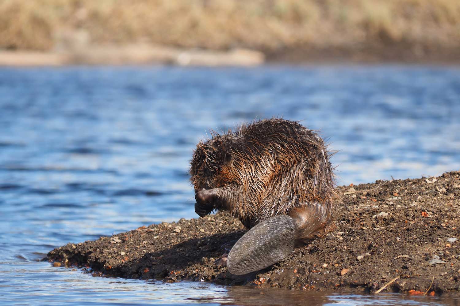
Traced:
POLYGON ((95 278, 40 261, 67 242, 197 217, 198 139, 273 116, 322 131, 338 184, 460 169, 458 68, 0 68, 0 304, 460 303, 95 278))

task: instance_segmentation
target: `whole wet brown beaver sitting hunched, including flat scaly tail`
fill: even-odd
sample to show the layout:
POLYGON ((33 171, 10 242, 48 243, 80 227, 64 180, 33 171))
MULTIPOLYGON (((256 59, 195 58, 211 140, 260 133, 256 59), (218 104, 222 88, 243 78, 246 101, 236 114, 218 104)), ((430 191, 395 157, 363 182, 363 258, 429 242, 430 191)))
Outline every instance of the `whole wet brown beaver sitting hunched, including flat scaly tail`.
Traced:
POLYGON ((334 227, 330 156, 316 131, 283 118, 212 132, 197 144, 190 162, 196 213, 229 211, 249 229, 221 256, 230 273, 269 267, 334 227))

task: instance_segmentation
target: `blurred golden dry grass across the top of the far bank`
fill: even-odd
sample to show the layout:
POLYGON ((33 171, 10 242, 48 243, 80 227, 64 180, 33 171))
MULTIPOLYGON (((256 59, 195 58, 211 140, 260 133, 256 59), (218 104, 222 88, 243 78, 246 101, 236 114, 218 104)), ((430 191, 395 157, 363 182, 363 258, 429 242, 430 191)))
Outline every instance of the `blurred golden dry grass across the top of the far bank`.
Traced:
POLYGON ((52 50, 69 33, 91 44, 266 52, 460 45, 459 0, 0 0, 0 16, 4 49, 52 50))

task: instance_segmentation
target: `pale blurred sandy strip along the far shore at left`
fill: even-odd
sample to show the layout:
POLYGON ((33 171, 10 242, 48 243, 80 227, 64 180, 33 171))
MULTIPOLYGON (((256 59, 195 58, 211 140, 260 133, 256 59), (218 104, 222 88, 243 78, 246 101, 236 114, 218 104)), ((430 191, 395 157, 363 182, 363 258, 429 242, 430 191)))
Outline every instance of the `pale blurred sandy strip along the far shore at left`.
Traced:
POLYGON ((210 51, 150 45, 93 46, 61 52, 0 51, 0 66, 144 65, 255 66, 263 53, 247 49, 210 51))

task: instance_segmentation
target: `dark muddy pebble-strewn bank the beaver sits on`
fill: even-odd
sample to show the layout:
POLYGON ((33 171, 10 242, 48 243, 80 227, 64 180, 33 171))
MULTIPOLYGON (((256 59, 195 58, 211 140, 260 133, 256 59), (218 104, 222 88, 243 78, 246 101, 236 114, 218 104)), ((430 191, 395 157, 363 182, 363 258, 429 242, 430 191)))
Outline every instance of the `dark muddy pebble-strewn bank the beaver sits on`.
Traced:
POLYGON ((55 266, 91 268, 95 276, 212 281, 300 290, 458 295, 460 172, 437 178, 343 186, 337 229, 258 273, 231 275, 213 261, 245 232, 227 215, 141 227, 48 253, 55 266))

